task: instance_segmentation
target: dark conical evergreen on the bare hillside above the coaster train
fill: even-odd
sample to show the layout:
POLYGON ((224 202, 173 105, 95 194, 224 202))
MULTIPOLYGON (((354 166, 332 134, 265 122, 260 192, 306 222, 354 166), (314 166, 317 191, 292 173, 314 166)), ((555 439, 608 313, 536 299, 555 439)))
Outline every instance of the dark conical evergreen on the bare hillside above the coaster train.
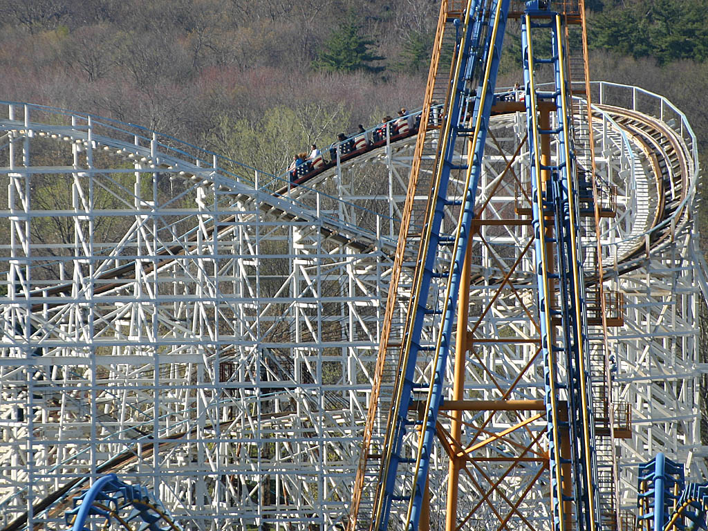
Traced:
POLYGON ((361 26, 355 18, 349 16, 329 35, 324 42, 324 50, 319 53, 313 66, 329 72, 379 72, 383 67, 375 67, 372 62, 384 57, 372 53, 370 49, 373 45, 373 40, 362 35, 361 26))

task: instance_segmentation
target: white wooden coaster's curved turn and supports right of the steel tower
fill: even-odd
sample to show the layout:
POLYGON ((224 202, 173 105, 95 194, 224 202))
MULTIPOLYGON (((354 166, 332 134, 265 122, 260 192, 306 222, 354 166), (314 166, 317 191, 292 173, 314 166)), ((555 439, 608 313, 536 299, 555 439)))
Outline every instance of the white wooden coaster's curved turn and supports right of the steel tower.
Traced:
MULTIPOLYGON (((637 461, 662 451, 689 463, 691 476, 708 472, 695 446, 702 406, 692 394, 700 388, 695 323, 703 297, 700 260, 693 252, 700 175, 695 135, 685 115, 666 98, 607 83, 594 84, 593 91, 598 108, 644 154, 636 160, 644 173, 641 180, 627 173, 616 181, 624 191, 618 195, 617 218, 605 220, 602 258, 608 287, 623 299, 622 324, 612 329, 607 348, 612 353, 615 413, 631 418, 627 426, 632 429, 615 442, 619 507, 628 516, 636 507, 637 461), (646 199, 639 195, 642 188, 649 191, 646 199), (632 227, 631 215, 622 219, 630 208, 645 209, 639 219, 652 219, 651 226, 639 230, 632 227)), ((598 152, 609 154, 607 144, 601 146, 598 152)))

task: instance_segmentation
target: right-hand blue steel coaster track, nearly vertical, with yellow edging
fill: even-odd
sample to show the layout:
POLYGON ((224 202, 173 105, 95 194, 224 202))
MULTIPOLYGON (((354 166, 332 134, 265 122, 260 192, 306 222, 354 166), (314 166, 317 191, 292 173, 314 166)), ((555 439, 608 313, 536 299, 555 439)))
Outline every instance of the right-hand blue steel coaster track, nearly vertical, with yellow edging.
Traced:
POLYGON ((535 232, 538 307, 546 384, 547 437, 551 472, 551 506, 554 529, 565 531, 573 515, 565 502, 573 501, 578 529, 594 530, 596 469, 593 413, 590 398, 587 320, 583 270, 579 256, 578 192, 574 187, 575 161, 571 146, 571 110, 564 76, 561 16, 531 5, 522 18, 525 103, 531 154, 532 225, 535 232), (552 37, 552 57, 536 57, 532 30, 547 30, 552 37), (550 64, 554 90, 537 89, 535 69, 550 64), (554 101, 556 128, 544 122, 539 100, 554 101), (555 164, 542 152, 543 137, 559 144, 555 164), (560 297, 556 296, 559 292, 560 297), (561 331, 552 319, 561 319, 561 331), (567 403, 567 420, 561 417, 567 403), (570 455, 562 455, 561 429, 567 427, 570 455), (564 466, 567 465, 567 466, 564 466), (571 488, 572 485, 572 488, 571 488))

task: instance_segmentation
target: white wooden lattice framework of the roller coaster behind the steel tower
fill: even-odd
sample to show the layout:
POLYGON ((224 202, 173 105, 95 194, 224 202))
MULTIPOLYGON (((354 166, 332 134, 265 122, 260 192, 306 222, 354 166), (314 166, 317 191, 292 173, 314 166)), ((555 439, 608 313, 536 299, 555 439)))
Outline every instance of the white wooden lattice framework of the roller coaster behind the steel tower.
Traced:
MULTIPOLYGON (((616 398, 632 405, 635 426, 619 443, 622 504, 631 506, 634 464, 659 450, 702 471, 690 217, 697 158, 668 102, 608 85, 594 99, 598 171, 619 188, 618 216, 603 221, 602 237, 607 287, 626 304, 610 349, 616 398), (661 168, 646 142, 603 106, 632 108, 633 93, 636 110, 678 131, 683 191, 680 178, 657 184, 661 168)), ((58 522, 60 505, 33 504, 110 470, 159 492, 185 528, 338 525, 415 137, 274 195, 285 182, 137 127, 23 104, 6 104, 1 118, 4 524, 25 511, 33 523, 58 522)), ((517 206, 525 146, 514 153, 524 131, 521 113, 493 119, 486 219, 517 206)), ((523 224, 481 227, 473 315, 529 241, 523 224)), ((597 260, 593 251, 587 260, 597 260)), ((486 316, 478 336, 535 337, 525 309, 531 255, 521 263, 514 282, 523 295, 504 295, 503 312, 486 316)), ((467 367, 470 396, 495 398, 494 379, 514 379, 535 350, 490 343, 467 367)), ((517 387, 517 398, 542 398, 541 372, 525 372, 517 387)), ((543 421, 531 426, 518 437, 543 421)), ((440 450, 435 462, 431 484, 442 485, 440 450)), ((444 508, 440 492, 433 516, 444 508)), ((545 496, 530 496, 524 510, 546 518, 545 496)))

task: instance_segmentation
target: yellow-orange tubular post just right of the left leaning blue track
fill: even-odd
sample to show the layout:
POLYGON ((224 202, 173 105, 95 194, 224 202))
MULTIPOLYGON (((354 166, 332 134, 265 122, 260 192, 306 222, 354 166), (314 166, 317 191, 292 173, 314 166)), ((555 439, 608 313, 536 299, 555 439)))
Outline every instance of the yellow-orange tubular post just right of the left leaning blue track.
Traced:
MULTIPOLYGON (((472 236, 472 235, 470 235, 472 236)), ((462 265, 462 276, 459 283, 459 303, 457 306, 457 338, 455 341, 455 377, 452 382, 452 399, 464 398, 464 365, 469 348, 467 344, 467 320, 469 319, 469 281, 470 265, 472 264, 472 241, 467 242, 467 253, 462 265)), ((459 445, 462 445, 462 411, 452 411, 450 435, 459 445)), ((464 457, 450 457, 450 474, 447 478, 447 510, 445 511, 445 531, 457 529, 457 496, 459 472, 464 465, 464 457)))

